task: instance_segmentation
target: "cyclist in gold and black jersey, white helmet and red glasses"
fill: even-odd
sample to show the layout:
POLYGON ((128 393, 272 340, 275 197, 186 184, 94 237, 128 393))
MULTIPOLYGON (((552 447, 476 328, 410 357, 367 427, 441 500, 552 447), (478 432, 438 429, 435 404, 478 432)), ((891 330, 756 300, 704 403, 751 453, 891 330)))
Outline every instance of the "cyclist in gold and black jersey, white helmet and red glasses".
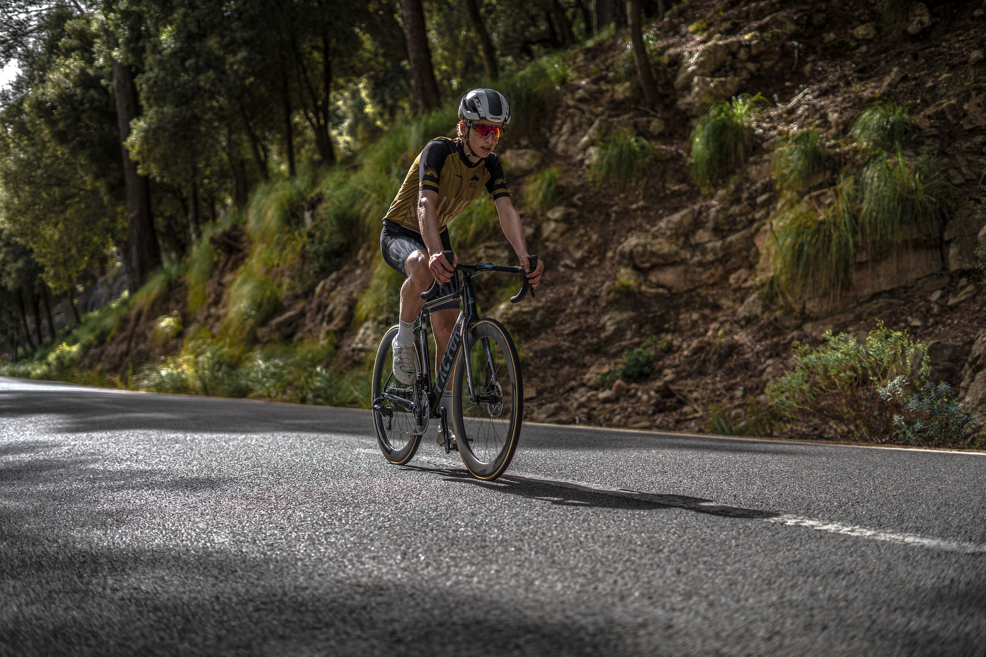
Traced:
MULTIPOLYGON (((499 92, 474 89, 458 103, 458 136, 438 137, 428 142, 407 171, 397 196, 384 217, 380 247, 387 265, 406 278, 400 288, 400 326, 393 339, 393 375, 404 385, 414 383, 414 320, 424 301, 421 293, 432 281, 442 285, 441 295, 458 290, 453 276, 458 264, 449 262, 444 250, 452 250, 449 223, 458 217, 486 187, 492 195, 507 240, 527 270, 528 245, 521 218, 510 200, 503 165, 493 153, 510 123, 510 106, 499 92)), ((540 282, 544 263, 528 274, 534 288, 540 282)), ((431 322, 435 332, 436 360, 445 354, 458 317, 458 301, 435 308, 431 322)), ((438 363, 436 363, 438 365, 438 363)), ((442 407, 452 414, 452 380, 442 398, 442 407)), ((438 442, 443 427, 439 427, 438 442)))

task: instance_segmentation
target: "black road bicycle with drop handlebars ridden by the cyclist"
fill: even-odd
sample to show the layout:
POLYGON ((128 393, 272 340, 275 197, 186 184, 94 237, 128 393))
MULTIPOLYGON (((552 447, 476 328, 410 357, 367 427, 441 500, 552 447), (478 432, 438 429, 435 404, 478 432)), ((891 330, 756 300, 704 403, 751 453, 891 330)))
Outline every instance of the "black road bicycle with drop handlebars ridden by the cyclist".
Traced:
MULTIPOLYGON (((449 262, 455 254, 445 251, 449 262)), ((377 442, 384 457, 395 465, 409 462, 421 444, 422 434, 433 418, 440 430, 446 453, 458 454, 476 479, 492 481, 502 475, 517 450, 524 417, 524 383, 521 361, 510 333, 495 319, 480 318, 472 290, 472 279, 480 274, 519 274, 521 290, 510 298, 518 303, 534 290, 526 274, 537 267, 537 256, 529 256, 530 269, 493 265, 459 264, 455 268, 458 292, 438 296, 435 282, 423 293, 425 306, 414 325, 414 357, 417 379, 404 385, 391 369, 391 342, 397 326, 391 326, 377 350, 373 368, 373 415, 377 442), (438 371, 432 377, 428 356, 431 309, 458 298, 458 320, 438 371), (452 377, 452 418, 442 408, 442 394, 452 377), (456 446, 450 435, 455 432, 456 446)))

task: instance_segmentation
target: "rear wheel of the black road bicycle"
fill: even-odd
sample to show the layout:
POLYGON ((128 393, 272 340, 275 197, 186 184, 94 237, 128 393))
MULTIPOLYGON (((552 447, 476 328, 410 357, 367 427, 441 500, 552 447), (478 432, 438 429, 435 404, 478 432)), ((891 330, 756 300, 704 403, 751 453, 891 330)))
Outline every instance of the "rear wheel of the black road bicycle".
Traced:
MULTIPOLYGON (((414 458, 414 453, 421 444, 421 433, 417 432, 414 414, 398 404, 389 402, 383 396, 383 392, 388 390, 416 400, 418 403, 421 403, 424 394, 416 385, 402 385, 393 377, 390 344, 395 335, 397 335, 397 327, 391 326, 384 334, 380 347, 377 348, 377 360, 374 361, 371 384, 371 408, 373 408, 374 428, 377 431, 377 444, 380 445, 384 458, 394 465, 404 465, 414 458)), ((418 358, 417 349, 414 358, 415 360, 418 358)))

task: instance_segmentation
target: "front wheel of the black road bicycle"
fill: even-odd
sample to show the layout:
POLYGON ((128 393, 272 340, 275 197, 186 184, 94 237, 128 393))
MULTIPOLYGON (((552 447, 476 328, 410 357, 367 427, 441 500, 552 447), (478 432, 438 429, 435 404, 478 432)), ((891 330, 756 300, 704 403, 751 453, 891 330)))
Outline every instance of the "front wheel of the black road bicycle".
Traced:
POLYGON ((510 333, 495 319, 480 319, 467 338, 459 349, 453 377, 453 426, 465 469, 476 479, 492 481, 510 466, 521 437, 521 359, 510 333), (466 358, 472 363, 475 404, 468 396, 466 358))

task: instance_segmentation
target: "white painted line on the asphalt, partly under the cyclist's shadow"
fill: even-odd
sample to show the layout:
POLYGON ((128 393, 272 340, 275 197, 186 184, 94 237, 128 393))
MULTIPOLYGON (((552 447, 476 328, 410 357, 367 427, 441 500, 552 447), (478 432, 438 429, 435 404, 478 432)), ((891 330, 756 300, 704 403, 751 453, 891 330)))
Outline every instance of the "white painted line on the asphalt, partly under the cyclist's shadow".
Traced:
MULTIPOLYGON (((377 449, 359 448, 357 449, 357 451, 365 452, 367 454, 374 454, 378 456, 380 455, 380 451, 377 449)), ((414 462, 428 463, 431 465, 437 465, 444 468, 458 465, 458 463, 456 463, 455 461, 450 461, 449 459, 435 458, 433 456, 415 456, 414 462)), ((871 541, 885 541, 887 543, 898 543, 902 545, 915 546, 919 548, 927 548, 929 550, 954 552, 963 555, 986 554, 986 545, 967 543, 964 541, 949 541, 946 539, 936 539, 927 536, 921 536, 919 534, 901 534, 896 532, 885 532, 879 529, 871 529, 869 527, 863 527, 861 525, 846 525, 840 522, 827 522, 824 520, 817 520, 815 518, 804 518, 797 515, 791 515, 789 513, 774 515, 766 511, 757 511, 756 509, 747 509, 739 506, 733 506, 731 504, 723 504, 721 502, 716 502, 716 501, 703 501, 703 500, 695 499, 694 497, 687 497, 683 495, 644 493, 642 491, 617 489, 609 486, 600 486, 599 484, 589 484, 587 482, 579 482, 579 481, 566 480, 566 479, 556 479, 554 477, 545 477, 543 475, 532 475, 528 473, 514 472, 514 471, 511 471, 503 475, 503 479, 506 479, 507 481, 548 484, 550 486, 557 486, 566 489, 574 489, 577 491, 585 491, 587 493, 600 493, 606 495, 615 495, 618 497, 629 497, 632 499, 652 501, 659 504, 664 504, 665 506, 674 506, 677 508, 684 508, 692 511, 700 511, 705 513, 712 512, 715 513, 716 515, 722 515, 722 516, 735 515, 736 517, 747 518, 750 520, 758 520, 760 522, 769 522, 774 525, 782 525, 785 527, 806 527, 808 529, 813 529, 818 532, 828 532, 829 534, 841 534, 843 536, 853 536, 861 539, 869 539, 871 541), (761 515, 761 517, 756 517, 757 515, 761 515)))

